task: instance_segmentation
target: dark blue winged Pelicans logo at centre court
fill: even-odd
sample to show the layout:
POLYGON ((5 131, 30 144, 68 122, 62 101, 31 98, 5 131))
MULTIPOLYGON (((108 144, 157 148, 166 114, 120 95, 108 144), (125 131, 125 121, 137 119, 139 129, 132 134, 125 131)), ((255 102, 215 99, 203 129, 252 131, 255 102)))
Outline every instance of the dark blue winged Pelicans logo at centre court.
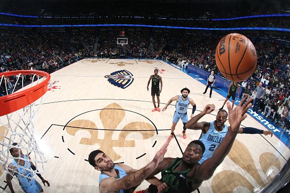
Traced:
POLYGON ((130 86, 130 84, 132 84, 134 80, 132 73, 127 70, 119 70, 104 77, 108 78, 108 82, 110 82, 114 86, 118 86, 119 88, 123 89, 130 86))

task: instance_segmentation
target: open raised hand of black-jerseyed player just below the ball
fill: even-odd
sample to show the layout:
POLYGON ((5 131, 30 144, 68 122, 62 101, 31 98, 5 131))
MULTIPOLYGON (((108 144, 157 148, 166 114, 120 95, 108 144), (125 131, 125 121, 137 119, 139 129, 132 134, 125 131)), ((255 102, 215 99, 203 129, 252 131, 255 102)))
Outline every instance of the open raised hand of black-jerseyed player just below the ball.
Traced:
POLYGON ((234 108, 233 110, 231 109, 231 104, 227 102, 228 122, 230 124, 231 131, 234 133, 237 133, 239 131, 241 122, 247 117, 247 115, 245 114, 247 113, 248 109, 252 106, 252 104, 250 103, 253 100, 252 97, 250 97, 247 103, 244 104, 248 96, 249 96, 248 94, 245 95, 245 97, 242 98, 240 104, 236 106, 236 108, 234 108))

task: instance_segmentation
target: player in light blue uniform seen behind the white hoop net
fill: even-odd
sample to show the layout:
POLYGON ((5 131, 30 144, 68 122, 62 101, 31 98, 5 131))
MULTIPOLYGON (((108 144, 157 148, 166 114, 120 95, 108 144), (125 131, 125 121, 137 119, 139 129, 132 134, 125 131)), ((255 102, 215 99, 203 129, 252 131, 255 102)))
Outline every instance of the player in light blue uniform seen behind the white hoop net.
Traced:
MULTIPOLYGON (((17 143, 13 143, 13 146, 17 146, 17 143)), ((29 170, 25 170, 25 168, 27 169, 32 169, 34 171, 36 171, 36 167, 34 166, 34 164, 31 161, 27 161, 28 159, 30 159, 30 157, 28 155, 23 155, 21 149, 19 148, 11 148, 10 150, 10 154, 14 157, 13 161, 11 162, 11 164, 9 165, 9 168, 11 168, 11 171, 16 171, 18 173, 15 173, 14 175, 16 175, 18 177, 18 181, 19 184, 21 185, 22 190, 25 193, 42 193, 43 189, 41 187, 41 185, 38 183, 38 181, 36 181, 33 177, 33 173, 29 170), (22 160, 22 159, 18 159, 19 157, 24 158, 26 160, 22 160), (18 167, 18 166, 21 167, 18 167), (32 179, 30 179, 32 178, 32 179)), ((45 183, 47 184, 47 186, 50 186, 49 182, 47 180, 45 180, 41 174, 37 174, 40 178, 42 183, 45 186, 45 183)), ((11 174, 6 174, 6 182, 9 186, 9 189, 12 193, 14 192, 11 180, 12 180, 12 175, 11 174)))

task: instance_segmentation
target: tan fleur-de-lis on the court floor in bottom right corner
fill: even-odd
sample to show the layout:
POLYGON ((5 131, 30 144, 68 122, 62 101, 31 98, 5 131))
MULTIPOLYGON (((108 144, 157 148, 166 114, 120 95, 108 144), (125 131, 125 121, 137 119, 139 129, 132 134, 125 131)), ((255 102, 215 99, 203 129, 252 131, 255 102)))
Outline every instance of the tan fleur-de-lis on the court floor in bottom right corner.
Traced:
POLYGON ((232 170, 224 170, 216 174, 211 181, 213 193, 230 193, 239 186, 243 186, 252 192, 254 187, 257 187, 256 184, 260 187, 265 187, 270 183, 272 177, 274 177, 268 174, 272 166, 276 167, 278 171, 281 169, 281 163, 278 157, 269 152, 261 154, 259 157, 259 163, 263 173, 265 174, 265 178, 263 180, 255 166, 253 157, 249 150, 237 139, 235 139, 233 146, 228 153, 228 157, 245 172, 247 172, 255 180, 255 183, 252 184, 250 182, 251 180, 249 180, 249 178, 247 179, 246 175, 232 170))

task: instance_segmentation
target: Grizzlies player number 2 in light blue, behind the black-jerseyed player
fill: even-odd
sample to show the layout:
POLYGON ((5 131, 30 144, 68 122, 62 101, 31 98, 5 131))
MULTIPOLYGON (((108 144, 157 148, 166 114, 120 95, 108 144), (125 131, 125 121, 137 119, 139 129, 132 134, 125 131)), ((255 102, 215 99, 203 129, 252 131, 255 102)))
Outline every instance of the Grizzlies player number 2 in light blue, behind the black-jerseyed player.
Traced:
MULTIPOLYGON (((248 98, 248 95, 246 96, 246 98, 248 98)), ((206 151, 204 152, 202 159, 198 162, 199 164, 203 163, 205 160, 207 160, 208 158, 212 156, 213 152, 216 150, 216 148, 220 145, 220 143, 225 138, 228 132, 228 129, 230 129, 230 126, 225 124, 228 117, 227 111, 219 110, 215 121, 212 121, 212 122, 203 121, 203 122, 198 123, 197 121, 206 114, 207 113, 204 110, 197 116, 194 116, 193 118, 191 118, 186 124, 187 129, 202 130, 202 134, 199 140, 202 141, 204 145, 206 146, 206 151)), ((252 127, 245 127, 245 128, 240 127, 238 134, 264 134, 264 135, 271 135, 272 137, 273 132, 259 130, 252 127)))

